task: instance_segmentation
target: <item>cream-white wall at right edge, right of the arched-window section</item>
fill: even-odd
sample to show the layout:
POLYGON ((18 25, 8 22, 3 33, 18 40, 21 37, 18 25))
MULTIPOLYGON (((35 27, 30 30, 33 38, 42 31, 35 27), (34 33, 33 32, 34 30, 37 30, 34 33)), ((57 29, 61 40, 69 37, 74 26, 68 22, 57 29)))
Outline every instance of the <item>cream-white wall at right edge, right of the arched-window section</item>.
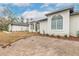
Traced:
POLYGON ((79 15, 72 15, 70 17, 70 35, 77 36, 79 31, 79 15))

